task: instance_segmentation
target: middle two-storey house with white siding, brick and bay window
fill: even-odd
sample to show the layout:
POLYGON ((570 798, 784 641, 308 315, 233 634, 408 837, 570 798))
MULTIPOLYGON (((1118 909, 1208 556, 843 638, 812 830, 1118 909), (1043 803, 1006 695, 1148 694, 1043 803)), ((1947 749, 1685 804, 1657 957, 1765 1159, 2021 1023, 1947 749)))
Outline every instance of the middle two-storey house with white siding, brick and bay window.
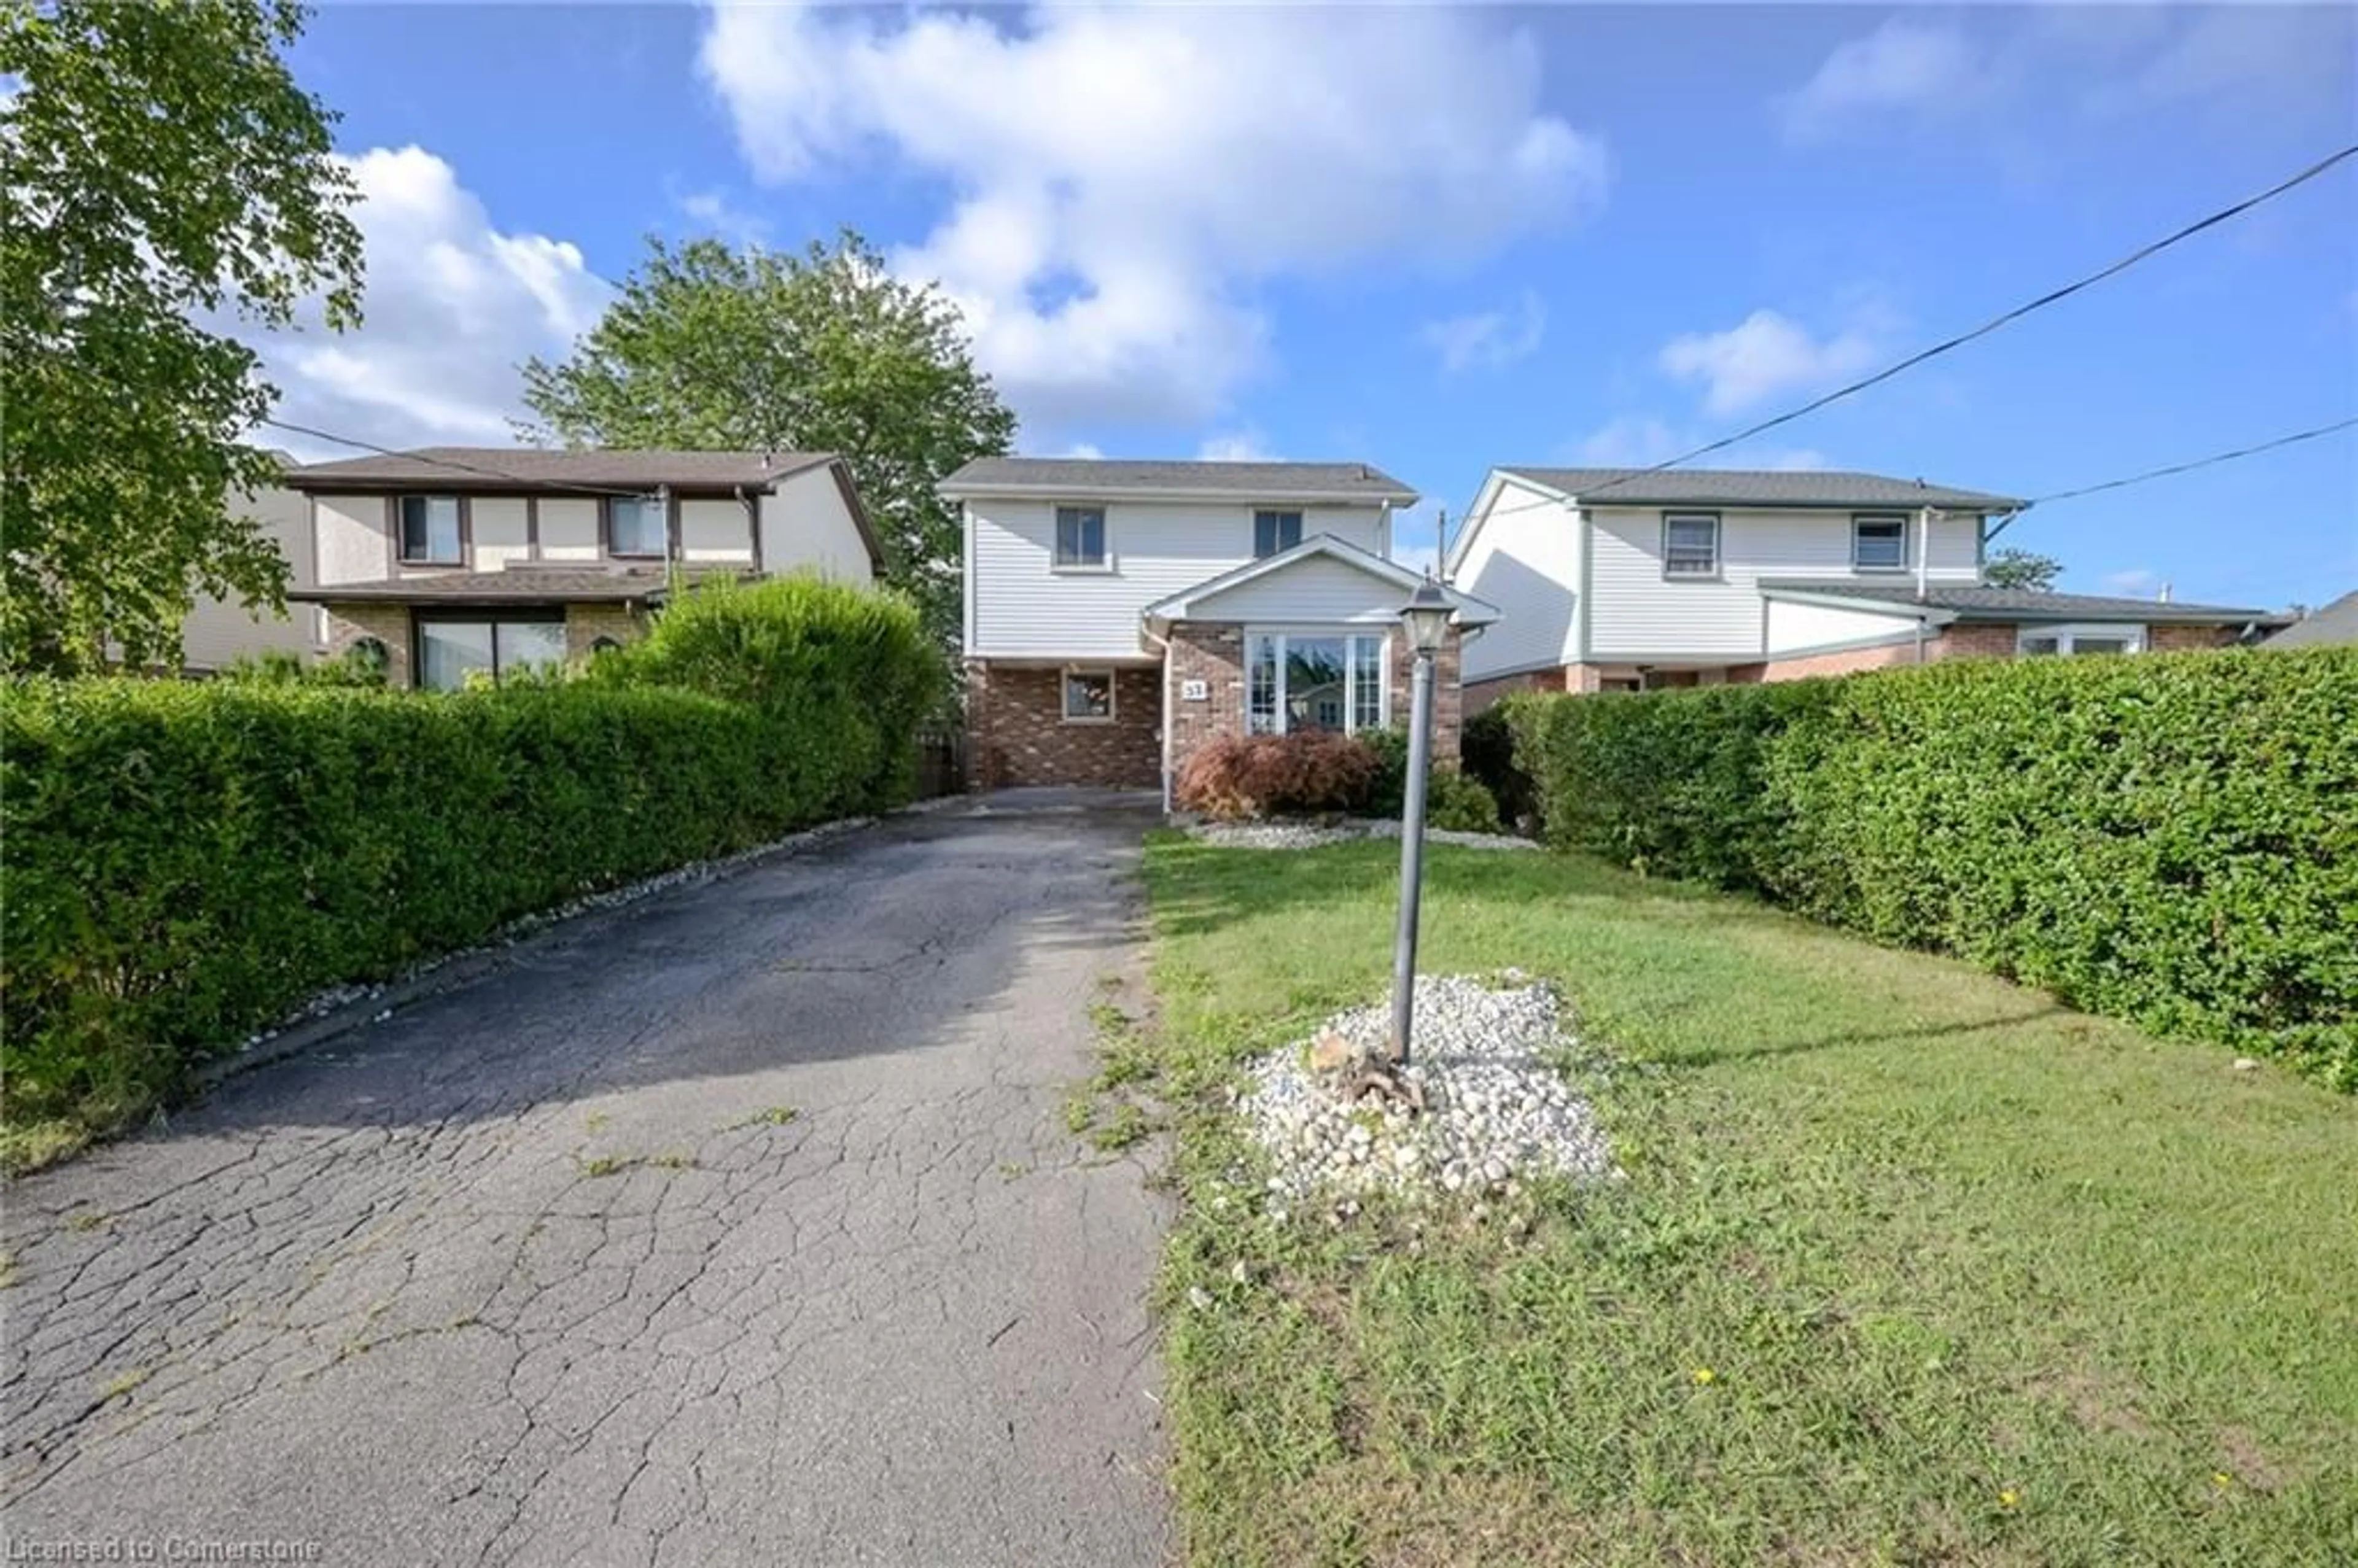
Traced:
MULTIPOLYGON (((981 457, 941 483, 964 526, 974 788, 1162 788, 1212 736, 1408 722, 1389 559, 1417 495, 1363 462, 981 457)), ((1453 594, 1434 757, 1457 759, 1453 594)))

